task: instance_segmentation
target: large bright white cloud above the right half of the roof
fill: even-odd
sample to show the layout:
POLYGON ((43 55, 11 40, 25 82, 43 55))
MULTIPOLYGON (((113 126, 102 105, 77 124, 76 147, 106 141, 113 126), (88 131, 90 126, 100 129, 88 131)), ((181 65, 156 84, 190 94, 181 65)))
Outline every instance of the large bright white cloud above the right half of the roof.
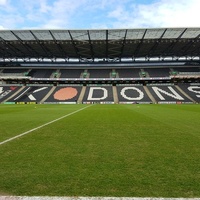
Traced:
POLYGON ((199 27, 199 0, 160 0, 151 4, 131 4, 131 9, 116 7, 108 13, 114 27, 199 27))

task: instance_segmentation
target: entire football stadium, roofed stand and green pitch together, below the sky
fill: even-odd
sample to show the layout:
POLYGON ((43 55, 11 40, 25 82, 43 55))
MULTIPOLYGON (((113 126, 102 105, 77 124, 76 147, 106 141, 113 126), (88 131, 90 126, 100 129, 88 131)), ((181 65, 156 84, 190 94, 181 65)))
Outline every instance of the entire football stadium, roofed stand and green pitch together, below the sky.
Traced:
POLYGON ((1 30, 0 103, 2 198, 200 197, 200 28, 1 30))

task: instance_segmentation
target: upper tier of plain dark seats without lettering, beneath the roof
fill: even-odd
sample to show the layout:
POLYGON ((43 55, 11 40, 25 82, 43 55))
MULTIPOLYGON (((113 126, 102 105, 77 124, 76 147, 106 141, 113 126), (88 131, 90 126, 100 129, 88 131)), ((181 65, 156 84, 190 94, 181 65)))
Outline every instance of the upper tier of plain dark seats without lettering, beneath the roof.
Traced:
POLYGON ((179 73, 200 73, 199 67, 151 67, 116 69, 2 69, 1 76, 9 74, 33 78, 134 78, 169 77, 179 73))

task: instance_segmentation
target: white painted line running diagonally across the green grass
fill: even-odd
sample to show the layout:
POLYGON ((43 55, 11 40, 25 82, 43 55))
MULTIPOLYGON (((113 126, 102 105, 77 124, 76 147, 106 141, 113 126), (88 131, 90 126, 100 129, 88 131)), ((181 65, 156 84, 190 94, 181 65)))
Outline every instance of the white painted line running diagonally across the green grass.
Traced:
POLYGON ((59 117, 59 118, 57 118, 57 119, 54 119, 53 121, 47 122, 47 123, 45 123, 45 124, 43 124, 43 125, 41 125, 41 126, 38 126, 38 127, 36 127, 36 128, 33 128, 33 129, 29 130, 29 131, 26 131, 26 132, 24 132, 24 133, 21 133, 21 134, 19 134, 19 135, 16 135, 16 136, 12 137, 12 138, 9 138, 9 139, 7 139, 7 140, 4 140, 3 142, 0 142, 0 145, 5 144, 5 143, 7 143, 7 142, 10 142, 10 141, 12 141, 12 140, 14 140, 14 139, 17 139, 17 138, 19 138, 19 137, 22 137, 22 136, 24 136, 24 135, 26 135, 26 134, 28 134, 28 133, 33 132, 33 131, 36 131, 36 130, 38 130, 38 129, 44 127, 44 126, 47 126, 47 125, 52 124, 52 123, 54 123, 54 122, 57 122, 57 121, 59 121, 59 120, 65 118, 65 117, 69 117, 70 115, 73 115, 73 114, 75 114, 75 113, 77 113, 77 112, 80 112, 80 111, 82 111, 82 110, 84 110, 84 109, 86 109, 86 108, 88 108, 88 107, 90 107, 90 106, 92 106, 92 105, 86 106, 86 107, 81 108, 81 109, 79 109, 79 110, 76 110, 76 111, 74 111, 74 112, 72 112, 72 113, 69 113, 69 114, 64 115, 64 116, 62 116, 62 117, 59 117))

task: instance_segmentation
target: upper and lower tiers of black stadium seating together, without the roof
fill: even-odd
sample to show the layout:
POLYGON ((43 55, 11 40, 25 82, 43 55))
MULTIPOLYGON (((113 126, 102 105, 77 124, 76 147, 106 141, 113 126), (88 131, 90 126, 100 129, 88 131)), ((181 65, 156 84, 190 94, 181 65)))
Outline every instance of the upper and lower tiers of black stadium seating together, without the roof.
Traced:
POLYGON ((0 103, 200 103, 199 79, 180 79, 175 82, 170 79, 173 74, 175 77, 181 73, 198 75, 200 68, 196 66, 112 69, 3 68, 0 72, 1 76, 23 74, 34 81, 44 79, 45 82, 55 78, 63 81, 51 84, 37 81, 29 84, 27 81, 26 84, 20 80, 10 81, 8 78, 0 85, 0 103), (68 78, 72 81, 74 79, 73 85, 66 85, 65 80, 68 78), (76 82, 82 78, 88 82, 76 82), (96 79, 102 82, 91 83, 90 80, 96 79), (110 82, 105 83, 102 79, 109 79, 110 82))

